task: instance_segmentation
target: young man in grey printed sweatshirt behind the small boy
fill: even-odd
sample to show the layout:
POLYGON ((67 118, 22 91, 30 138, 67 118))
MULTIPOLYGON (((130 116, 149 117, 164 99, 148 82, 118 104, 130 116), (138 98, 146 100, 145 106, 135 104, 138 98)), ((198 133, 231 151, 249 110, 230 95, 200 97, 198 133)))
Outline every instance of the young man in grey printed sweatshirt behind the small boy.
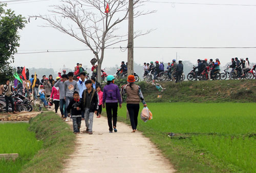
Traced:
MULTIPOLYGON (((74 73, 68 73, 69 80, 65 81, 64 83, 64 90, 65 90, 65 100, 66 105, 69 105, 69 102, 74 99, 73 94, 75 91, 79 92, 77 82, 73 80, 74 73)), ((67 107, 66 106, 66 107, 67 107)), ((72 114, 71 114, 72 116, 72 114)))

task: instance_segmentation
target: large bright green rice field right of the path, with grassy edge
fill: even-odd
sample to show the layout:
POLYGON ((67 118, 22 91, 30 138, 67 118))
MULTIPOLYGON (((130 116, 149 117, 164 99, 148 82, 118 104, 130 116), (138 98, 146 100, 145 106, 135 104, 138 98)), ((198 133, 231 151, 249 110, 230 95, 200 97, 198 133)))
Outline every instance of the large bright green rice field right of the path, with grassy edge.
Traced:
MULTIPOLYGON (((256 103, 148 103, 153 119, 144 123, 139 117, 138 130, 180 172, 255 172, 255 107, 256 103)), ((125 104, 118 116, 126 118, 125 104)))

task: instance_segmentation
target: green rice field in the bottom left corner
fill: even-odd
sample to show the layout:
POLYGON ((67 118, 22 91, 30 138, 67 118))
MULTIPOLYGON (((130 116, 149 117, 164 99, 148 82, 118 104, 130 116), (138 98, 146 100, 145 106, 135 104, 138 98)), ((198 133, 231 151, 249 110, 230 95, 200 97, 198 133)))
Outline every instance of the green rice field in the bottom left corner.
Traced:
POLYGON ((19 154, 15 161, 0 160, 0 172, 19 172, 41 148, 42 142, 28 127, 27 123, 0 124, 0 154, 19 154))

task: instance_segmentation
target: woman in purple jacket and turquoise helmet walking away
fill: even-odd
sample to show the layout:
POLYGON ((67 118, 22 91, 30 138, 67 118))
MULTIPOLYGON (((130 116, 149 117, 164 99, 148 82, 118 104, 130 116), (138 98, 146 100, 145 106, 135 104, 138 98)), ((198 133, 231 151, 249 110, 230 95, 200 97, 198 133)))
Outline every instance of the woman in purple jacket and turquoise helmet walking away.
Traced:
POLYGON ((118 109, 118 102, 119 107, 122 107, 122 100, 119 88, 116 84, 114 84, 114 76, 109 75, 106 77, 108 81, 103 89, 103 100, 102 100, 102 107, 105 108, 106 103, 106 115, 108 117, 109 123, 109 131, 110 133, 117 132, 116 129, 116 122, 117 122, 117 109, 118 109), (113 114, 112 114, 113 112, 113 114), (113 117, 113 126, 112 126, 112 117, 113 117))

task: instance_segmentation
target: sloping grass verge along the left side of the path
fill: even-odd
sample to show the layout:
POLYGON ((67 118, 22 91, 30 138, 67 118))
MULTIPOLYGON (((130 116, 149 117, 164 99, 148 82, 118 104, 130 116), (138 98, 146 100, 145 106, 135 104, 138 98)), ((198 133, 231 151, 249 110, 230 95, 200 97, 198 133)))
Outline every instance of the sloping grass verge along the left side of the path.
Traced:
POLYGON ((74 150, 75 135, 70 126, 53 112, 46 112, 31 119, 29 129, 43 146, 21 172, 61 172, 63 160, 74 150))

